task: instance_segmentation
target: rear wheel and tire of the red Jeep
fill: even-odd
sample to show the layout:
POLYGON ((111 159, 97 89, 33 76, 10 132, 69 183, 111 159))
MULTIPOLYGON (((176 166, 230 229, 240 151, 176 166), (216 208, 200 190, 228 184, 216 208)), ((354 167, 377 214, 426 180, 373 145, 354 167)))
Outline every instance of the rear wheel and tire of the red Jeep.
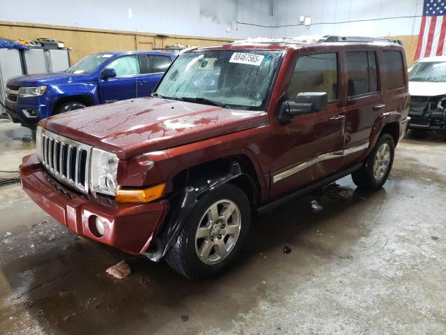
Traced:
POLYGON ((392 170, 394 151, 393 137, 389 134, 380 135, 362 168, 351 174, 353 183, 367 190, 381 188, 387 181, 390 170, 392 170), (385 153, 388 153, 388 156, 385 153), (378 165, 375 165, 375 163, 378 165))

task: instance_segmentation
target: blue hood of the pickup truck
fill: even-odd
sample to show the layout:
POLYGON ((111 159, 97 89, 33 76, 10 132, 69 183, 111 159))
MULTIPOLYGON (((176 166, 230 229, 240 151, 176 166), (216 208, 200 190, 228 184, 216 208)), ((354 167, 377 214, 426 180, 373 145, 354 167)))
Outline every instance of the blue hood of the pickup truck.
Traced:
POLYGON ((57 85, 57 84, 69 84, 75 82, 85 82, 89 80, 88 75, 79 75, 68 72, 55 72, 55 73, 40 73, 36 75, 20 75, 19 77, 12 77, 8 80, 7 84, 17 87, 30 87, 38 85, 57 85))

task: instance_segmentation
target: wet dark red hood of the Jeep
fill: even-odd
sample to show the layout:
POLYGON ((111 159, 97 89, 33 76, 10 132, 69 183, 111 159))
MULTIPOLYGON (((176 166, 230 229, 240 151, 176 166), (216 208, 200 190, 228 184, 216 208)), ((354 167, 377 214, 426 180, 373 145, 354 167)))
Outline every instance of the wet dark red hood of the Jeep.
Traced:
POLYGON ((268 124, 262 111, 229 110, 161 98, 139 98, 56 115, 49 131, 127 159, 268 124))

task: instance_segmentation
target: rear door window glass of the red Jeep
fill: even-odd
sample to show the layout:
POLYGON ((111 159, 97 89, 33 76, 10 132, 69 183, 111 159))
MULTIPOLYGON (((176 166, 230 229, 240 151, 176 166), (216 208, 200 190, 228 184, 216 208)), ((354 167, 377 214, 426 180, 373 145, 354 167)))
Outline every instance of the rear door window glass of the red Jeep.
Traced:
POLYGON ((348 51, 346 59, 348 96, 378 91, 376 54, 374 51, 348 51))

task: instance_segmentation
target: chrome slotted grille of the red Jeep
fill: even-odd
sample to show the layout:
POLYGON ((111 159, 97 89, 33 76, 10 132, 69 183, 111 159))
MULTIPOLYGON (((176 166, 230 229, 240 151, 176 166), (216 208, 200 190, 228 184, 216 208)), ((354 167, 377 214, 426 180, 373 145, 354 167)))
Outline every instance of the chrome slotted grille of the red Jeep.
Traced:
POLYGON ((89 192, 90 145, 43 129, 39 152, 49 174, 77 191, 89 192))

